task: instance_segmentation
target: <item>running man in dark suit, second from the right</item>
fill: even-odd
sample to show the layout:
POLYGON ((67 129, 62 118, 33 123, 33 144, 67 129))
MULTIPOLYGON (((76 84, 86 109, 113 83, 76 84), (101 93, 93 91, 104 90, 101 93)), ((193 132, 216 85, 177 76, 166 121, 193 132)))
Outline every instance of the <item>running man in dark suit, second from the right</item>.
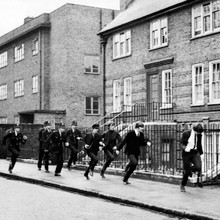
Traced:
POLYGON ((137 122, 135 124, 135 129, 128 132, 124 140, 118 146, 118 150, 121 150, 121 148, 126 144, 125 154, 127 154, 129 159, 129 163, 126 167, 126 173, 123 178, 123 182, 126 184, 130 184, 130 182, 128 182, 128 179, 138 165, 140 147, 151 145, 149 139, 146 140, 144 139, 143 130, 144 130, 144 124, 142 122, 137 122))

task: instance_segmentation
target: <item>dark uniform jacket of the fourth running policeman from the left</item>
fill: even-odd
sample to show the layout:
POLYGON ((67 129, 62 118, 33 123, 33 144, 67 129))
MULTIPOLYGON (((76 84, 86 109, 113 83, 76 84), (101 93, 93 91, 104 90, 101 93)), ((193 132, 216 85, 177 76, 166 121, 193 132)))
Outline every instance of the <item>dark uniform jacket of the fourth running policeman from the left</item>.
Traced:
POLYGON ((74 132, 72 129, 67 130, 66 132, 66 142, 69 143, 69 148, 73 150, 74 152, 78 152, 79 144, 78 144, 78 137, 82 138, 81 131, 78 129, 74 129, 74 132))

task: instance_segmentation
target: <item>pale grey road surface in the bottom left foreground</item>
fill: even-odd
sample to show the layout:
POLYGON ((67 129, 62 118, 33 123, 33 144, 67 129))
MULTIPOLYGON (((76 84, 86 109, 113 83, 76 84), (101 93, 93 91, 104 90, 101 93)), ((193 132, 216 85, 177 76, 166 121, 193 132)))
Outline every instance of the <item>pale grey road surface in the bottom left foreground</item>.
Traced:
POLYGON ((0 178, 0 219, 7 220, 177 220, 102 199, 0 178))

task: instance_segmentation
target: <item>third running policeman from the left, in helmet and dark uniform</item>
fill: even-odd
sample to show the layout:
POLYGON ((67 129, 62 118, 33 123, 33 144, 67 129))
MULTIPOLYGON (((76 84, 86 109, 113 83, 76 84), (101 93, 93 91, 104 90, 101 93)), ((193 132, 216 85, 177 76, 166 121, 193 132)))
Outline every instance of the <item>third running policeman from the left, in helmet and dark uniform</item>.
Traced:
POLYGON ((53 161, 56 163, 55 176, 60 176, 63 168, 63 145, 66 142, 64 124, 57 125, 57 129, 53 131, 47 138, 46 144, 50 144, 49 152, 53 161))

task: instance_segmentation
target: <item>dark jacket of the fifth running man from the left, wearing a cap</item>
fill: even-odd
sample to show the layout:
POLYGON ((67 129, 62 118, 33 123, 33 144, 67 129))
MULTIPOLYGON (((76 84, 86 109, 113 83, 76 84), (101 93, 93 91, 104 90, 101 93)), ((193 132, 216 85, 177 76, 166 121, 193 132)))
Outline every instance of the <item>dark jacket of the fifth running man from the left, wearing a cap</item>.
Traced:
POLYGON ((99 142, 102 141, 102 136, 100 134, 93 135, 92 133, 86 134, 85 136, 85 144, 88 144, 90 146, 89 149, 85 149, 86 152, 92 152, 97 154, 99 151, 99 142))

